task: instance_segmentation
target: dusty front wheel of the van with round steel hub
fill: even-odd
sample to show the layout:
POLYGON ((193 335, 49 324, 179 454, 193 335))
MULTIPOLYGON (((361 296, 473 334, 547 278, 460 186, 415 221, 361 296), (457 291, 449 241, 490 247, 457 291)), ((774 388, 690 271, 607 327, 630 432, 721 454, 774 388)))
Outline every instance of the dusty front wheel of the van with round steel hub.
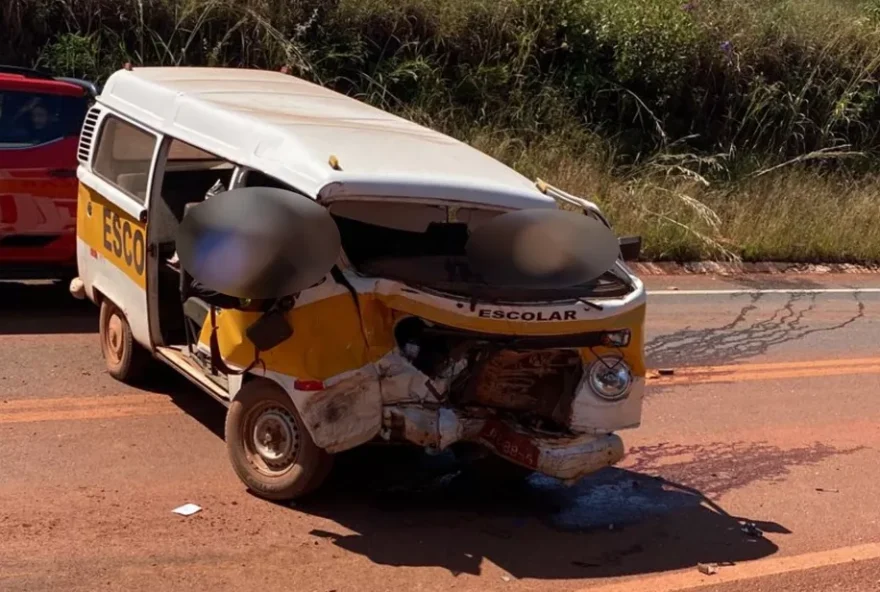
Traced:
POLYGON ((333 455, 312 440, 288 394, 265 379, 245 384, 229 406, 226 450, 239 479, 272 501, 308 495, 333 466, 333 455), (259 431, 271 438, 262 446, 256 441, 260 422, 259 431))

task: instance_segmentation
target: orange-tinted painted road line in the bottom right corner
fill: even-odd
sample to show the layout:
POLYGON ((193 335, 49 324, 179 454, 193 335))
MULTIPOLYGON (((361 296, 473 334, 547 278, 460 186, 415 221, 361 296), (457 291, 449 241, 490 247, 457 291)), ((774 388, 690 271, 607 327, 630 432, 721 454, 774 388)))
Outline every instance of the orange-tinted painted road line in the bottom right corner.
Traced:
POLYGON ((743 562, 731 567, 720 567, 713 576, 704 576, 694 567, 688 571, 667 573, 647 578, 626 579, 612 584, 584 588, 577 592, 679 592, 703 586, 741 582, 796 573, 809 569, 846 565, 856 561, 880 559, 880 544, 869 543, 818 553, 771 557, 758 561, 743 562))

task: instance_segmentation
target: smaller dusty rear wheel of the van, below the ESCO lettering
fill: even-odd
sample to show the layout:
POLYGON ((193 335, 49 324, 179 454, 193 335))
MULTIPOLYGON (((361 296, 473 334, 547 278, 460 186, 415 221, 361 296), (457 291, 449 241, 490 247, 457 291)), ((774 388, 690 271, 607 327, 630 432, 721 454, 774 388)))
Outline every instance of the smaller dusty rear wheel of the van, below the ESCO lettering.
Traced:
POLYGON ((135 341, 128 319, 119 308, 104 300, 98 323, 101 354, 110 376, 127 384, 143 378, 150 363, 150 353, 135 341))

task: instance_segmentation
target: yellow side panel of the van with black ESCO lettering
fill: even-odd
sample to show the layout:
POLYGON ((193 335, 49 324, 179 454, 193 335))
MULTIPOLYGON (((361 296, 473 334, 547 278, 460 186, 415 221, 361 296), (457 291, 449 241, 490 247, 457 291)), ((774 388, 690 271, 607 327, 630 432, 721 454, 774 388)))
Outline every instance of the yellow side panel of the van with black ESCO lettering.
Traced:
POLYGON ((77 236, 145 289, 146 225, 82 183, 76 212, 77 236))

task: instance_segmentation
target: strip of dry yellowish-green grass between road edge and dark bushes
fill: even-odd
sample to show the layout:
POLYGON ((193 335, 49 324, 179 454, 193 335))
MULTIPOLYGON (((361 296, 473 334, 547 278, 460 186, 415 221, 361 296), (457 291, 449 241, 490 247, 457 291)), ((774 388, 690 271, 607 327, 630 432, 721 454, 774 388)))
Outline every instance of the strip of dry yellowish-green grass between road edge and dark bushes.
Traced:
MULTIPOLYGON (((786 167, 734 182, 667 175, 649 162, 615 174, 565 147, 475 144, 532 176, 594 199, 619 234, 641 234, 651 260, 880 260, 880 176, 786 167)), ((759 174, 759 173, 758 173, 759 174)))

